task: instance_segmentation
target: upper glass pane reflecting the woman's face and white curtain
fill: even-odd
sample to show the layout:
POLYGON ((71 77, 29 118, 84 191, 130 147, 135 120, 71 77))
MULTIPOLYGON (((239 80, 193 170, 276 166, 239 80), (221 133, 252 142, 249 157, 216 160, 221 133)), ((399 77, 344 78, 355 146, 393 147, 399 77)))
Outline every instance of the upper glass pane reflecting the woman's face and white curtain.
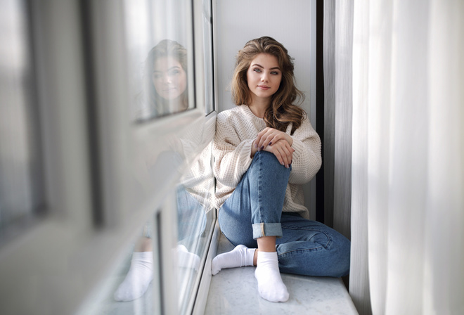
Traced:
POLYGON ((125 4, 133 119, 141 122, 194 108, 189 2, 125 4))

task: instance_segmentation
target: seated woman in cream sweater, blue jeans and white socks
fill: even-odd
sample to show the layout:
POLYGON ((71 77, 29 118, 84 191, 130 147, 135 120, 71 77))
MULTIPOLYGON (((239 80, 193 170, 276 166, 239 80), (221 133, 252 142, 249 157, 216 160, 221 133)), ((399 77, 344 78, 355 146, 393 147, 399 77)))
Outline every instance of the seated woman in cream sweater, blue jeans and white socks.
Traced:
POLYGON ((285 302, 280 271, 308 276, 347 275, 350 243, 309 220, 302 184, 321 167, 321 140, 295 101, 294 65, 271 37, 238 52, 232 79, 236 108, 217 116, 214 175, 219 226, 236 248, 218 255, 223 268, 257 266, 259 295, 285 302))

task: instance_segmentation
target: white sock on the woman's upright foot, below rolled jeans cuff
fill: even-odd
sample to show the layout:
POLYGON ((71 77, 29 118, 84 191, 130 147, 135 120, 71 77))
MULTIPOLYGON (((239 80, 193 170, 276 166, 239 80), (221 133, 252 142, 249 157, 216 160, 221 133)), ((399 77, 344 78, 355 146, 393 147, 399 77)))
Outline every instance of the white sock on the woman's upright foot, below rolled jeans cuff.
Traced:
POLYGON ((289 294, 278 270, 277 252, 258 252, 254 276, 258 281, 259 296, 271 302, 286 302, 289 294))

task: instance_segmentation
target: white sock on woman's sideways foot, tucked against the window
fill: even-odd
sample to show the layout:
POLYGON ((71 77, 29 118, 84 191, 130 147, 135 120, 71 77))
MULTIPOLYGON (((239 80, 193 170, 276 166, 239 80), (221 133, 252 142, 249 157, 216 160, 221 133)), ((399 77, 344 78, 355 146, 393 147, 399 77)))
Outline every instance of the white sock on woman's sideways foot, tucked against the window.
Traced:
POLYGON ((217 274, 223 268, 253 266, 254 250, 254 248, 247 248, 245 245, 237 245, 230 252, 217 255, 211 264, 212 274, 217 274))

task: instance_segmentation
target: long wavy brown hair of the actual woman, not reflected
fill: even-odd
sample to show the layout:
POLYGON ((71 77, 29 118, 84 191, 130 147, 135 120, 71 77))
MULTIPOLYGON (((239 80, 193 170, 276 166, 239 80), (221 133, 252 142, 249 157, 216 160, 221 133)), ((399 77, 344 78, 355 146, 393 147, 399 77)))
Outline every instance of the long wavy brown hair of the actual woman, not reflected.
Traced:
POLYGON ((233 72, 231 93, 236 105, 250 105, 251 91, 247 83, 247 71, 252 60, 259 53, 276 56, 282 72, 281 85, 271 98, 271 106, 264 113, 267 127, 284 131, 292 123, 291 134, 302 124, 306 113, 298 105, 304 101, 304 94, 295 86, 293 58, 287 49, 272 37, 252 39, 238 51, 236 69, 233 72), (295 105, 295 102, 297 105, 295 105))

